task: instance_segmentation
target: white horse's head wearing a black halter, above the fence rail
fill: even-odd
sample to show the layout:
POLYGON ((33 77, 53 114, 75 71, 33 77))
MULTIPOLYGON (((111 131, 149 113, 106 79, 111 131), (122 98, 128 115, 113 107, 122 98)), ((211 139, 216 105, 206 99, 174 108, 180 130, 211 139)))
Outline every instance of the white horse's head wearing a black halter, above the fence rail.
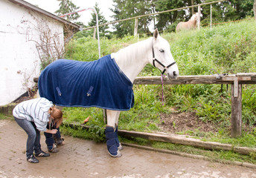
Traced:
POLYGON ((153 61, 150 61, 155 67, 161 70, 161 73, 167 73, 169 79, 176 79, 179 76, 179 68, 170 53, 170 44, 161 36, 159 30, 155 30, 152 43, 153 61))

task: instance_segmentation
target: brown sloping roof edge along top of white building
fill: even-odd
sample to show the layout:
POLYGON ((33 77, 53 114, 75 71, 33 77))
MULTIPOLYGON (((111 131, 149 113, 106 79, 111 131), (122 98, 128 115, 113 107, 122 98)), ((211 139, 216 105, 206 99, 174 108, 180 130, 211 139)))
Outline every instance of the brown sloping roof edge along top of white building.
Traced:
POLYGON ((79 25, 74 24, 72 22, 68 22, 67 20, 62 19, 62 18, 54 15, 53 13, 49 13, 46 10, 42 10, 41 8, 36 7, 33 4, 28 3, 27 1, 23 1, 23 0, 8 0, 8 1, 12 2, 13 4, 18 4, 19 6, 25 7, 27 9, 29 9, 29 10, 32 10, 32 11, 36 12, 36 13, 40 13, 43 16, 47 16, 47 17, 49 17, 51 19, 54 19, 54 20, 56 20, 58 22, 62 22, 63 24, 67 24, 68 26, 71 26, 72 28, 74 28, 76 30, 80 29, 79 25))

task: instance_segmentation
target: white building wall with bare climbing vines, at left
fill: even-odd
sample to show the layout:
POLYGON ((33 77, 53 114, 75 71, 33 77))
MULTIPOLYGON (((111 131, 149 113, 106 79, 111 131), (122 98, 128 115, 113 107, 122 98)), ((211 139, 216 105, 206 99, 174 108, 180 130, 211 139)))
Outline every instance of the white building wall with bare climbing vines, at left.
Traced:
MULTIPOLYGON (((39 76, 37 22, 45 17, 7 0, 0 0, 0 17, 0 105, 7 105, 32 88, 33 78, 39 76)), ((46 20, 63 44, 63 24, 46 20)))

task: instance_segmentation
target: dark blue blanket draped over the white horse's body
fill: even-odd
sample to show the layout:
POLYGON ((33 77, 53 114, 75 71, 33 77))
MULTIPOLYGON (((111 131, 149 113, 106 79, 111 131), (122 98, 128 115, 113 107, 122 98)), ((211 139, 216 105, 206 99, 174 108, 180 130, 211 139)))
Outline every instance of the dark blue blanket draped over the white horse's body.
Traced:
POLYGON ((111 59, 58 59, 42 70, 39 95, 55 105, 127 111, 134 105, 132 82, 111 59))

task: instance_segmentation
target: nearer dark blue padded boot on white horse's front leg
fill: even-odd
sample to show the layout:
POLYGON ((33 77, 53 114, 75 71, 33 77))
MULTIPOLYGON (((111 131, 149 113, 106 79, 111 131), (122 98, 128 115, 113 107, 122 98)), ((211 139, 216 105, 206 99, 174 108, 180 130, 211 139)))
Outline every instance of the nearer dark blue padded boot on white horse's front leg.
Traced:
POLYGON ((117 139, 118 133, 116 132, 116 128, 106 125, 105 135, 106 135, 106 147, 108 149, 109 154, 113 157, 122 156, 122 154, 118 150, 118 145, 120 145, 120 142, 117 139))

